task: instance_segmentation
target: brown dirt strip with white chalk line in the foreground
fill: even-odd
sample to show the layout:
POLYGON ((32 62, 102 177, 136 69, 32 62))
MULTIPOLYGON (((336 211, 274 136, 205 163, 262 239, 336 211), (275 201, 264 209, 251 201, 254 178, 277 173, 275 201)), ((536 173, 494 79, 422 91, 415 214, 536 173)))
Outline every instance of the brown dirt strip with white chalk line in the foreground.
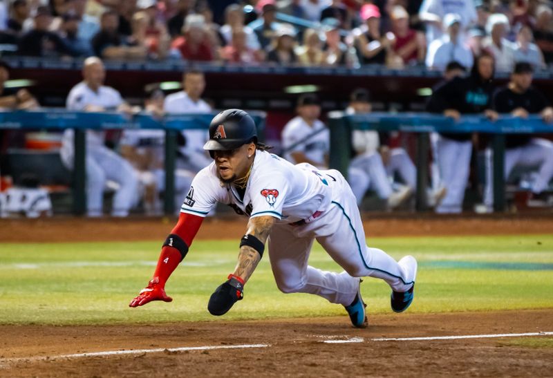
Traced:
POLYGON ((432 377, 551 376, 553 337, 423 341, 375 338, 553 331, 553 310, 371 316, 364 330, 347 316, 272 321, 111 325, 0 326, 3 377, 432 377), (355 339, 353 339, 355 338, 355 339), (324 343, 324 341, 350 341, 324 343), (536 345, 523 344, 536 341, 536 345), (351 342, 357 341, 357 342, 351 342), (138 352, 62 357, 84 352, 178 347, 247 349, 138 352), (41 358, 37 358, 41 357, 41 358))

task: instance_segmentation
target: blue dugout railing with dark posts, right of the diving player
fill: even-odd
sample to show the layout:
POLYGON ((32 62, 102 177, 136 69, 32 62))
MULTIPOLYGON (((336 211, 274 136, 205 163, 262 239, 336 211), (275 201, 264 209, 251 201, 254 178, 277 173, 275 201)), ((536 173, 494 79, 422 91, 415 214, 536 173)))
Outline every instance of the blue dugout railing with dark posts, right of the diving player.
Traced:
POLYGON ((500 115, 495 122, 473 115, 461 117, 458 122, 449 117, 429 113, 368 113, 346 115, 341 111, 328 114, 330 128, 330 168, 338 169, 347 177, 352 155, 351 134, 354 129, 375 131, 404 131, 415 133, 417 139, 415 165, 417 167, 417 211, 428 209, 426 188, 429 182, 429 134, 482 133, 491 135, 490 147, 494 151, 494 211, 505 211, 505 134, 553 133, 553 124, 545 124, 541 117, 531 115, 526 119, 500 115))

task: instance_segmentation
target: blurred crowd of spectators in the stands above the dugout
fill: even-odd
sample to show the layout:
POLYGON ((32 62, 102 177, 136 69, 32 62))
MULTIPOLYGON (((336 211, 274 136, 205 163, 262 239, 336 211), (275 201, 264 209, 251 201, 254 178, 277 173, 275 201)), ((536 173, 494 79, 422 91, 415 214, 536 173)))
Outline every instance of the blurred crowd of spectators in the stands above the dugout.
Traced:
POLYGON ((549 0, 6 0, 0 53, 245 65, 553 63, 549 0))

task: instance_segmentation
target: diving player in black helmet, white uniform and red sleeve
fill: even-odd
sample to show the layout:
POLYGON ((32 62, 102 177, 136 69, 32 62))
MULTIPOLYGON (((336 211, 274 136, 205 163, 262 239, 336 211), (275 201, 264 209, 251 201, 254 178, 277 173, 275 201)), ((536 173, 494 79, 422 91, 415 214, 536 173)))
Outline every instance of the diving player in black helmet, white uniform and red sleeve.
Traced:
POLYGON ((130 307, 172 301, 165 293, 167 278, 187 255, 216 202, 250 219, 234 272, 209 299, 211 314, 223 315, 243 299, 244 286, 261 261, 265 244, 279 290, 317 294, 344 305, 357 328, 367 325, 360 277, 386 281, 392 288, 395 312, 409 307, 417 274, 415 258, 405 256, 396 262, 381 249, 366 246, 357 201, 339 171, 319 170, 306 163, 293 165, 269 153, 257 140, 252 117, 238 109, 214 117, 203 148, 214 161, 192 181, 178 223, 163 243, 153 278, 130 307), (344 272, 324 272, 308 265, 315 239, 344 272))

